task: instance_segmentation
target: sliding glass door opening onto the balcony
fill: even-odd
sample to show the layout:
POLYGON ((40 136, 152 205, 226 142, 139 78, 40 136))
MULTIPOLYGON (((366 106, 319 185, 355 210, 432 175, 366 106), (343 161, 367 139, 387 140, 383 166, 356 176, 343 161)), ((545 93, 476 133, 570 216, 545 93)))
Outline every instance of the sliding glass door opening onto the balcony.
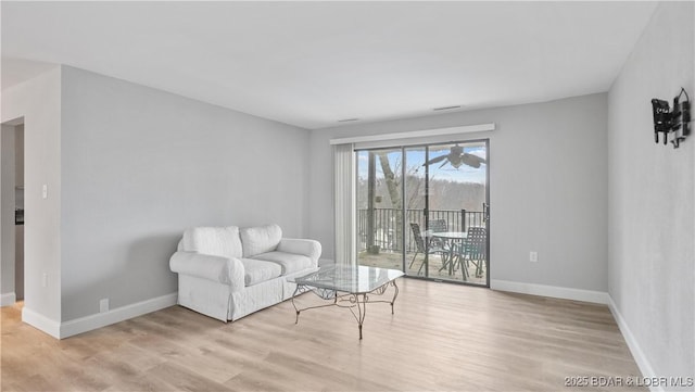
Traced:
POLYGON ((357 261, 489 286, 488 141, 357 151, 357 261))

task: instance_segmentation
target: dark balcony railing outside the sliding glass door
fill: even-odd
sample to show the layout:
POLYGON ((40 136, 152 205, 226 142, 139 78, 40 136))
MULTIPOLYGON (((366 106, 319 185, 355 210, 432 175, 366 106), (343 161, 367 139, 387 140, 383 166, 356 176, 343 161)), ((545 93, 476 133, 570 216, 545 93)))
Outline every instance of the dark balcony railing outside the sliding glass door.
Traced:
MULTIPOLYGON (((367 208, 357 210, 357 249, 364 251, 368 245, 377 245, 380 251, 401 252, 402 241, 400 216, 402 211, 399 208, 374 208, 374 243, 368 244, 368 219, 369 211, 367 208)), ((466 210, 430 210, 429 220, 444 219, 448 231, 466 231, 471 226, 484 226, 482 211, 466 210)), ((406 252, 415 252, 417 244, 410 230, 410 224, 420 225, 425 230, 425 213, 422 210, 405 211, 405 250, 406 252)))

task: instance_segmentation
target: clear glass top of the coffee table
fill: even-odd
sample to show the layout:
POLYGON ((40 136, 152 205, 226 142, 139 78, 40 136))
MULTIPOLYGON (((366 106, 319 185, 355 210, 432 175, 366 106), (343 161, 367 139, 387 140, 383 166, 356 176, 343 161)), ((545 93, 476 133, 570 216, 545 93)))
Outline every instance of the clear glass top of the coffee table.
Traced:
POLYGON ((397 269, 377 268, 367 266, 325 266, 316 273, 290 279, 301 286, 342 291, 361 294, 376 289, 402 277, 397 269))

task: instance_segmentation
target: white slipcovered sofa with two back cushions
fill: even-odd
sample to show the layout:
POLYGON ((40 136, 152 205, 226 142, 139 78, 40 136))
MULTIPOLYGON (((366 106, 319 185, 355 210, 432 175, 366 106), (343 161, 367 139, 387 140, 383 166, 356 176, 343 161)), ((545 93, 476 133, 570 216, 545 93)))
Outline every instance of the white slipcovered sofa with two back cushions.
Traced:
POLYGON ((223 321, 289 299, 289 277, 317 269, 318 241, 281 238, 278 225, 186 230, 169 267, 178 274, 178 303, 223 321))

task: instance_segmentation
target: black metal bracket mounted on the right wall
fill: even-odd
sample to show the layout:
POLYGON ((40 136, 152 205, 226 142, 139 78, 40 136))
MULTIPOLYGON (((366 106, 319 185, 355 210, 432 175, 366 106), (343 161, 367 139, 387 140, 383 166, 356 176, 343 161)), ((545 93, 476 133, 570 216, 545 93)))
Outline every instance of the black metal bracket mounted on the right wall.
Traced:
POLYGON ((659 142, 659 132, 664 134, 664 144, 671 139, 673 148, 678 149, 681 141, 691 134, 691 100, 681 88, 681 93, 673 98, 673 111, 669 108, 668 101, 660 99, 652 100, 652 112, 654 113, 654 141, 659 142), (681 96, 685 94, 685 101, 680 102, 681 96))

